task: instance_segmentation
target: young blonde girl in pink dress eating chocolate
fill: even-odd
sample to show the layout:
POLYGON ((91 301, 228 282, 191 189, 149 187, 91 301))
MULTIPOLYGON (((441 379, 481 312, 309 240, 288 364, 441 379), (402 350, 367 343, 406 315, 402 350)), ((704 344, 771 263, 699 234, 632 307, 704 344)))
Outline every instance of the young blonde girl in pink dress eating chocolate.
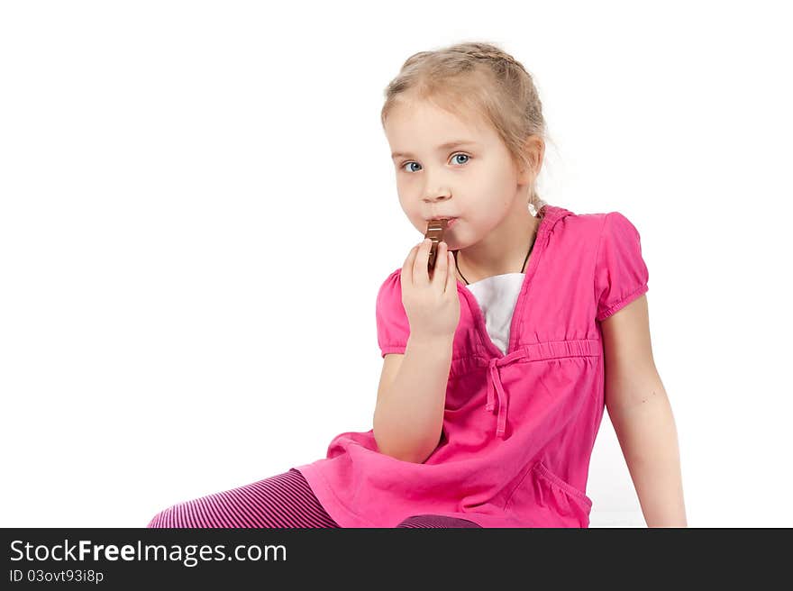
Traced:
POLYGON ((604 408, 646 523, 685 526, 639 232, 537 195, 531 75, 488 43, 422 51, 381 121, 410 223, 452 221, 432 270, 425 240, 379 288, 373 429, 150 527, 588 527, 604 408))

